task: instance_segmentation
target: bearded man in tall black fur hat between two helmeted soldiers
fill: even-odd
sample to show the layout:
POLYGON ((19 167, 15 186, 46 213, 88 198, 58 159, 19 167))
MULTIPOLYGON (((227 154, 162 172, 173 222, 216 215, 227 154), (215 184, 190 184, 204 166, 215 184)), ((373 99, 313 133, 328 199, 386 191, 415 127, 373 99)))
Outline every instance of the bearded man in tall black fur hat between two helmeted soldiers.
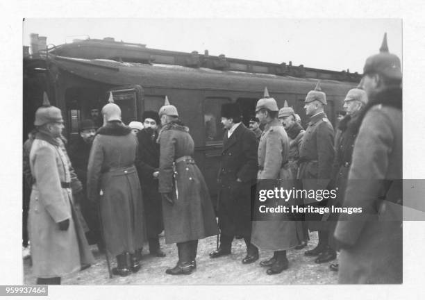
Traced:
MULTIPOLYGON (((163 208, 158 192, 160 152, 159 144, 156 142, 160 119, 158 113, 148 110, 143 113, 142 121, 143 129, 137 135, 139 145, 136 167, 143 193, 149 253, 164 257, 165 253, 160 250, 158 238, 164 230, 163 208)), ((141 256, 141 253, 139 255, 141 256)))

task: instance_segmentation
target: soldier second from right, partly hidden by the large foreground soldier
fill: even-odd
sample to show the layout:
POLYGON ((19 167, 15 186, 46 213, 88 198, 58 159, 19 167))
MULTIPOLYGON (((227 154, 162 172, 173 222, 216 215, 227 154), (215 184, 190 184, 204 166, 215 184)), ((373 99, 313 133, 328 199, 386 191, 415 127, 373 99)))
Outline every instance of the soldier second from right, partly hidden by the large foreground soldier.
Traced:
MULTIPOLYGON (((337 144, 335 144, 335 159, 332 166, 331 187, 338 190, 337 198, 333 200, 333 205, 341 207, 344 203, 344 192, 347 186, 347 178, 351 165, 354 142, 358 133, 360 123, 358 117, 367 103, 367 94, 360 88, 349 90, 344 99, 344 109, 346 115, 338 124, 340 132, 337 144)), ((329 266, 331 270, 338 271, 338 263, 329 266)))

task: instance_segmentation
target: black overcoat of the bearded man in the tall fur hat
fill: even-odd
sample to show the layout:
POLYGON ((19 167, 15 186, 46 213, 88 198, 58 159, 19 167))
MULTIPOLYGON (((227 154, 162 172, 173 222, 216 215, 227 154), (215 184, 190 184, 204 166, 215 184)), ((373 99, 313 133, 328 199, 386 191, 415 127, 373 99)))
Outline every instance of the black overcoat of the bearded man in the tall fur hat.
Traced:
POLYGON ((153 172, 159 170, 158 134, 151 135, 146 129, 138 133, 138 156, 136 167, 142 187, 144 215, 148 238, 158 238, 164 230, 163 205, 158 192, 158 178, 153 178, 153 172))

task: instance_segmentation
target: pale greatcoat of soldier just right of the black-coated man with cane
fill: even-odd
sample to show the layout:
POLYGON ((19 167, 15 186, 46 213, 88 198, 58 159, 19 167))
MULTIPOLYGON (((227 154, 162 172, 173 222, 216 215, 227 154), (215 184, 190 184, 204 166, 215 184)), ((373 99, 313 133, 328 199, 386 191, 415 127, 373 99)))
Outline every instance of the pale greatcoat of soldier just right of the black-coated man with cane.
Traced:
MULTIPOLYGON (((288 135, 281 122, 274 119, 265 126, 258 146, 258 189, 284 188, 291 190, 294 187, 294 175, 288 165, 288 153, 288 135)), ((269 207, 289 207, 292 204, 289 201, 285 202, 283 198, 267 201, 269 207)), ((288 250, 296 247, 302 240, 301 222, 296 221, 291 214, 269 214, 267 220, 252 222, 251 242, 260 249, 288 250)))

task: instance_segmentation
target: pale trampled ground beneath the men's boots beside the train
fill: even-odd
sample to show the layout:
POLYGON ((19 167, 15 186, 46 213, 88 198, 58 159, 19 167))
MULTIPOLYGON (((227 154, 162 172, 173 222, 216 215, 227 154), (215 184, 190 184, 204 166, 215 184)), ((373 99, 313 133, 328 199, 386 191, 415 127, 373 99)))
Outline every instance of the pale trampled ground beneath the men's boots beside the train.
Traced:
MULTIPOLYGON (((142 268, 138 273, 120 277, 108 276, 105 255, 91 247, 96 262, 90 268, 70 274, 62 278, 63 285, 244 285, 244 284, 335 284, 338 283, 338 274, 328 267, 330 263, 317 265, 312 257, 304 256, 304 251, 313 249, 317 244, 317 233, 310 234, 308 247, 302 250, 288 251, 290 267, 281 274, 267 275, 266 268, 260 267, 260 260, 272 256, 272 251, 260 251, 260 260, 251 265, 242 265, 245 256, 244 240, 233 240, 232 254, 221 258, 211 259, 210 251, 216 247, 216 237, 199 241, 197 270, 190 275, 171 276, 165 274, 167 267, 174 267, 177 261, 175 244, 164 244, 160 238, 161 249, 167 254, 165 258, 149 255, 144 249, 141 260, 142 268)), ((115 266, 115 260, 113 261, 115 266)), ((113 267, 112 266, 112 267, 113 267)), ((35 284, 36 278, 31 274, 31 260, 24 258, 24 284, 35 284)))

